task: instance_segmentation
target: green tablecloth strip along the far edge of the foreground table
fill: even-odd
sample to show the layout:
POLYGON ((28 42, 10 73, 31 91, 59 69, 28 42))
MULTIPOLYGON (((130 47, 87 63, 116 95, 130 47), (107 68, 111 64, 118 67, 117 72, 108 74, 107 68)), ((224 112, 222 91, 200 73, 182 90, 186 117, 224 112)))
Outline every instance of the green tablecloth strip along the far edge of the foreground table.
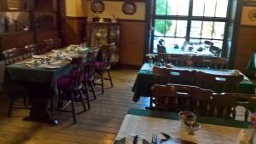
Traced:
MULTIPOLYGON (((143 109, 129 109, 127 114, 133 114, 138 116, 144 117, 153 117, 153 118, 165 118, 165 119, 174 119, 178 120, 178 114, 175 112, 159 112, 159 111, 149 111, 143 109)), ((243 122, 243 121, 236 121, 233 119, 227 118, 210 118, 210 117, 197 117, 196 120, 202 124, 215 124, 215 125, 222 125, 222 126, 230 126, 236 128, 248 128, 251 126, 252 123, 250 122, 243 122)))

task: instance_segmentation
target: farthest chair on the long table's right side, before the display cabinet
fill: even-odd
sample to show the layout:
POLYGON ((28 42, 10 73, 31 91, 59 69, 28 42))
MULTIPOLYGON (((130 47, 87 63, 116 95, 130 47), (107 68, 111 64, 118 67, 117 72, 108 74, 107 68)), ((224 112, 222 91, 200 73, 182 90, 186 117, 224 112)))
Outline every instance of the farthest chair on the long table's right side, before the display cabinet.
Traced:
POLYGON ((102 45, 100 52, 100 59, 96 61, 96 73, 101 78, 102 94, 104 94, 104 82, 103 80, 108 80, 113 87, 113 81, 110 75, 111 69, 111 59, 112 55, 115 55, 116 46, 114 43, 102 45), (103 78, 105 72, 108 72, 108 78, 103 78))

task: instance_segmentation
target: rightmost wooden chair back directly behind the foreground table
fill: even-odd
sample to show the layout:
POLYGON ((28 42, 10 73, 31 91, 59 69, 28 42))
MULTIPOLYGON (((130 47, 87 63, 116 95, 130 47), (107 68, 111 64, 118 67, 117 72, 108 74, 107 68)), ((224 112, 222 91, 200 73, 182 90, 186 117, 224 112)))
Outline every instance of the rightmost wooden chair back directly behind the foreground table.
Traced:
MULTIPOLYGON (((214 114, 218 118, 236 118, 236 107, 244 107, 244 120, 247 121, 249 111, 249 97, 238 93, 215 94, 214 97, 214 114)), ((255 107, 255 106, 254 106, 255 107)))

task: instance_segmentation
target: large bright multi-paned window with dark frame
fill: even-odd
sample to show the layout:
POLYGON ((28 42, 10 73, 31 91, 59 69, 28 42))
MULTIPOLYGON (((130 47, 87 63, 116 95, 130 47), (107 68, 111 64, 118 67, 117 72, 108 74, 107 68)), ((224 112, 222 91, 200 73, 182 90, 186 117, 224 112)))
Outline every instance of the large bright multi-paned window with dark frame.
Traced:
POLYGON ((160 39, 166 49, 212 41, 222 49, 230 0, 154 0, 153 52, 160 39))

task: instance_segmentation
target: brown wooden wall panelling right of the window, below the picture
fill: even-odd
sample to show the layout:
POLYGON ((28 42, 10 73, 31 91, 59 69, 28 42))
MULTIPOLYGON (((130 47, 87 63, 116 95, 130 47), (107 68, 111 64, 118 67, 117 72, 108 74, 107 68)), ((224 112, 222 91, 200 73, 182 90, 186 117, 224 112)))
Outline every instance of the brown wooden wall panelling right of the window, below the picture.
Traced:
POLYGON ((256 53, 256 27, 241 26, 238 33, 235 68, 251 74, 247 72, 246 67, 253 53, 256 53))

